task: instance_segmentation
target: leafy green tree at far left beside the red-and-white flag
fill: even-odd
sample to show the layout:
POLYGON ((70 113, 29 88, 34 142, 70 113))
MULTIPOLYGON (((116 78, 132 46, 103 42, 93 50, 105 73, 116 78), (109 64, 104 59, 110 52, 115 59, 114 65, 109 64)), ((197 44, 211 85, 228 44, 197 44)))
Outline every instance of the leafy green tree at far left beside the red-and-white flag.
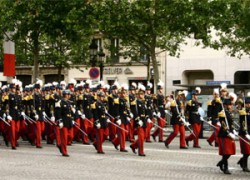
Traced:
MULTIPOLYGON (((72 56, 84 54, 87 45, 80 45, 85 48, 79 49, 76 44, 89 42, 92 29, 90 26, 79 29, 71 19, 79 10, 85 17, 91 17, 88 4, 88 1, 69 0, 1 1, 1 26, 4 31, 14 31, 12 38, 16 42, 17 59, 25 64, 32 61, 33 82, 39 77, 40 63, 54 62, 60 73, 62 67, 70 67, 72 56), (50 57, 41 59, 47 51, 50 57), (51 61, 51 58, 56 58, 56 61, 51 61)), ((88 23, 88 20, 84 22, 88 23)))

